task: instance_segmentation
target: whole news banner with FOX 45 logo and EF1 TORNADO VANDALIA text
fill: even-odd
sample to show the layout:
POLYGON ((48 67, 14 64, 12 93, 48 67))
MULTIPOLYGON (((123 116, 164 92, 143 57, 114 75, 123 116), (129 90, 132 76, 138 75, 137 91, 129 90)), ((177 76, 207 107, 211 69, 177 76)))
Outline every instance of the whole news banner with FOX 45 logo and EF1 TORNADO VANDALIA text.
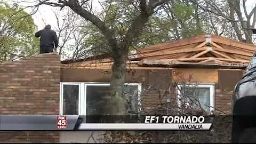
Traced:
POLYGON ((0 131, 210 130, 211 125, 204 116, 0 116, 0 131))

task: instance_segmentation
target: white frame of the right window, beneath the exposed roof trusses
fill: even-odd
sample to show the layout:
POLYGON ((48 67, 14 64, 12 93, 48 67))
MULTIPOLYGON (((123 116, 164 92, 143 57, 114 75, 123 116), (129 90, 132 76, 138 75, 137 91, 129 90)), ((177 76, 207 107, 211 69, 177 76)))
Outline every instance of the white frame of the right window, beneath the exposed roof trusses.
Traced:
MULTIPOLYGON (((181 85, 181 84, 178 84, 178 87, 179 87, 179 89, 178 89, 178 87, 177 87, 177 92, 178 92, 178 100, 177 100, 177 102, 178 102, 178 106, 180 107, 180 105, 181 105, 181 102, 180 102, 180 95, 181 95, 181 93, 180 93, 180 91, 179 90, 181 90, 181 87, 182 87, 183 85, 181 85)), ((213 111, 214 111, 214 105, 215 105, 215 103, 214 103, 214 97, 215 97, 215 89, 214 89, 214 87, 215 87, 215 84, 214 83, 202 83, 202 84, 186 84, 185 85, 186 87, 205 87, 205 88, 209 88, 210 89, 210 113, 212 113, 213 111)))

